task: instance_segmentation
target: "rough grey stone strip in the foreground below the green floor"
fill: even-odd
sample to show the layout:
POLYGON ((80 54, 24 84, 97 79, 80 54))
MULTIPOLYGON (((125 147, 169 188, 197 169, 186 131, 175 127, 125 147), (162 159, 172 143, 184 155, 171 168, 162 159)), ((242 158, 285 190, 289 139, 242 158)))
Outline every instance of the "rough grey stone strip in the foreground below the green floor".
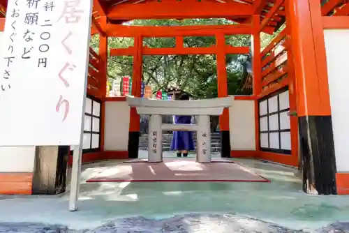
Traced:
MULTIPOLYGON (((82 226, 82 229, 84 227, 82 226)), ((0 223, 0 232, 45 232, 45 233, 87 233, 87 232, 123 232, 123 233, 156 233, 156 232, 309 232, 291 230, 280 225, 262 220, 240 217, 235 214, 186 214, 164 219, 143 217, 119 218, 111 220, 95 229, 72 230, 62 225, 43 225, 36 223, 0 223)), ((349 232, 349 223, 334 223, 311 232, 349 232)))

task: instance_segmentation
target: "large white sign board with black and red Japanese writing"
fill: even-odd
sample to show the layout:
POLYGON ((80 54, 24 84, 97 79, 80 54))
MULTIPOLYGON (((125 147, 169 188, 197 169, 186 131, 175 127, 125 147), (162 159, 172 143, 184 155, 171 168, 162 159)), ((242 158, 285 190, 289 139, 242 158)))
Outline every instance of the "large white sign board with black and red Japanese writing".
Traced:
POLYGON ((8 0, 0 146, 78 145, 91 1, 8 0))

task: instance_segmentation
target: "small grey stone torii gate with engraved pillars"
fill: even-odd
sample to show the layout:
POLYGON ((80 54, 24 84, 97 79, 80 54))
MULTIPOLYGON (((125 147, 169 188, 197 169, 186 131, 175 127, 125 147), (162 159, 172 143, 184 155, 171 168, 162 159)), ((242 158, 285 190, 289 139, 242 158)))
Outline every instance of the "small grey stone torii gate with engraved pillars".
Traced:
POLYGON ((148 133, 148 162, 163 161, 162 131, 196 131, 198 163, 211 162, 210 116, 220 116, 225 108, 232 105, 234 97, 213 98, 207 100, 149 100, 146 98, 127 97, 130 107, 135 107, 138 114, 150 115, 148 133), (197 124, 162 123, 162 115, 191 115, 198 119, 197 124))

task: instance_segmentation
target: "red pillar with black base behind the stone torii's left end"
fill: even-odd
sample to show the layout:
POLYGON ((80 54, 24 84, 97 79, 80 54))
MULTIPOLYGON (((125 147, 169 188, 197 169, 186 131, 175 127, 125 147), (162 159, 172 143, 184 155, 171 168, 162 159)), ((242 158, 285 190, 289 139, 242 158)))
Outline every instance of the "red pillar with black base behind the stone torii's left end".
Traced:
MULTIPOLYGON (((140 97, 142 89, 142 36, 135 36, 132 69, 132 96, 140 97)), ((128 158, 138 158, 138 149, 140 144, 140 115, 135 107, 130 109, 130 126, 128 130, 128 158)))

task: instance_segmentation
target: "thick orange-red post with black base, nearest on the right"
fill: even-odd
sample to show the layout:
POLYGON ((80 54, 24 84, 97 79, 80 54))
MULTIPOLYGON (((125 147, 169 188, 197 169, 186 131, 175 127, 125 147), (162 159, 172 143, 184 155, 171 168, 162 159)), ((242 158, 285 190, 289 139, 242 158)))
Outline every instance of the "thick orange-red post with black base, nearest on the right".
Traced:
POLYGON ((336 158, 320 1, 287 0, 285 6, 296 61, 303 189, 312 194, 336 194, 336 158))

